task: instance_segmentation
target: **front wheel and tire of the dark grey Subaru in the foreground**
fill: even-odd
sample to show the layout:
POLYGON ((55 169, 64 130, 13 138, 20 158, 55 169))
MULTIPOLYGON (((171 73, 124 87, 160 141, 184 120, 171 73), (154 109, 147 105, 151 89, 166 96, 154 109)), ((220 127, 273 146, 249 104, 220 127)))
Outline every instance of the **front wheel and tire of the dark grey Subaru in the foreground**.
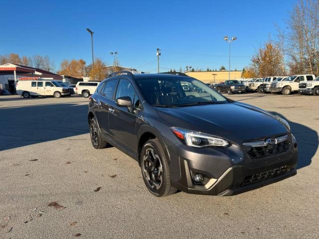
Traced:
POLYGON ((177 191, 170 185, 167 158, 157 138, 150 139, 143 145, 140 165, 144 183, 154 196, 165 197, 177 191))

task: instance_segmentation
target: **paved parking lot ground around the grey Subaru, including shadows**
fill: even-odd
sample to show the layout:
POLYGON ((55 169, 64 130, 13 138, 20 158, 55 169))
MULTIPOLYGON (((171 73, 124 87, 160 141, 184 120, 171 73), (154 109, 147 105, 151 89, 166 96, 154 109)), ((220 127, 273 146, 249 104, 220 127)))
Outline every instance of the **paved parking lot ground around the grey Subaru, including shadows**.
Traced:
POLYGON ((319 97, 230 98, 290 122, 296 176, 232 197, 156 198, 135 160, 93 148, 87 99, 0 97, 0 238, 318 239, 319 97))

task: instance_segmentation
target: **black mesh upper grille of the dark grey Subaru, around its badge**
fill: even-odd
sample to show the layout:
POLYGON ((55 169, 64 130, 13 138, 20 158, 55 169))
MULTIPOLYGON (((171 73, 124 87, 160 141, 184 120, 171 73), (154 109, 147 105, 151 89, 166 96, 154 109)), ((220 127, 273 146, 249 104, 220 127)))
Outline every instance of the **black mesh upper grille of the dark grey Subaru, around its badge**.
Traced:
POLYGON ((262 158, 272 156, 274 154, 283 153, 289 150, 290 142, 288 140, 275 144, 273 147, 260 146, 251 147, 247 152, 251 158, 262 158))

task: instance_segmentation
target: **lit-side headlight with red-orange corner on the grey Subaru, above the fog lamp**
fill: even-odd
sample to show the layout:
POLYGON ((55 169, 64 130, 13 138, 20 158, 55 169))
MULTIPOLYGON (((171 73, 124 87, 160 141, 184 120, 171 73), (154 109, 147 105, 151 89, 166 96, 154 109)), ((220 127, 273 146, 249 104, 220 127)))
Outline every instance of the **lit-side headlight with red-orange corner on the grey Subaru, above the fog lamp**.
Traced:
POLYGON ((177 127, 171 127, 171 130, 182 143, 187 144, 191 147, 225 147, 229 144, 225 139, 218 138, 206 133, 190 131, 177 127))

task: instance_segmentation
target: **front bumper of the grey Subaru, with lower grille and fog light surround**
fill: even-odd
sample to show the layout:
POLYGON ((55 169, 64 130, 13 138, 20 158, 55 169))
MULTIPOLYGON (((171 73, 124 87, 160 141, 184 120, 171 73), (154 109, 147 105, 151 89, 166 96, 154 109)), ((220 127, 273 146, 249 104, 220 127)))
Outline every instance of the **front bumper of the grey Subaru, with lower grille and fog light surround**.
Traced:
POLYGON ((251 159, 239 146, 190 148, 182 143, 168 147, 171 185, 194 194, 231 196, 294 176, 298 148, 272 157, 251 159), (202 151, 202 152, 200 152, 202 151), (207 180, 196 185, 192 175, 207 180))

